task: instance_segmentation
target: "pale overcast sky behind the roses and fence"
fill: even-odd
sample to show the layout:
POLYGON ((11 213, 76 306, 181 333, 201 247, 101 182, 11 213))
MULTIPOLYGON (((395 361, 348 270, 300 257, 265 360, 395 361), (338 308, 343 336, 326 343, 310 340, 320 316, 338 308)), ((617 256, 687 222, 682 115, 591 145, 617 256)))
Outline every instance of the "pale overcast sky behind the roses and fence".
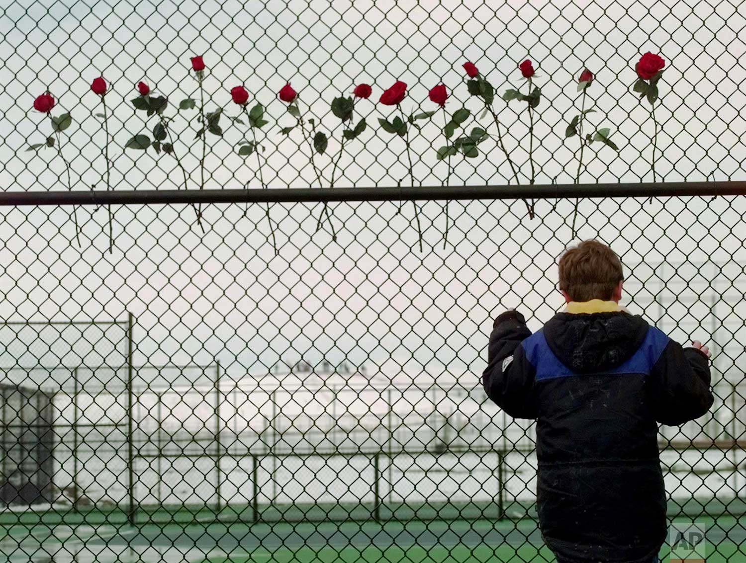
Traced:
MULTIPOLYGON (((507 87, 525 91, 517 63, 526 57, 535 62, 535 84, 545 96, 535 128, 537 183, 574 180, 577 137, 565 141, 564 130, 580 108, 576 81, 583 66, 596 74, 586 102, 597 110, 589 114, 589 130, 611 128, 620 151, 598 143, 586 149, 581 181, 650 181, 650 107, 631 92, 634 63, 645 51, 658 52, 666 61, 659 84, 662 102, 656 106, 662 124, 656 169, 662 178, 704 180, 714 174, 717 180, 744 180, 746 43, 737 4, 667 0, 648 9, 631 0, 67 0, 44 5, 19 0, 0 8, 0 48, 6 53, 0 61, 0 186, 68 188, 54 151, 25 152, 50 130, 48 120, 31 110, 34 97, 49 88, 58 103, 52 114, 64 109, 74 119, 63 135, 74 189, 92 184, 105 189, 105 136, 93 116, 101 105, 89 89, 93 78, 104 75, 113 109, 112 188, 183 187, 172 157, 122 149, 129 136, 155 125, 153 119, 145 123, 128 103, 136 95, 134 84, 145 80, 169 97, 166 114, 175 116, 176 150, 189 170, 189 188, 198 189, 197 111, 175 109, 182 98, 198 97, 189 72, 194 54, 204 55, 207 64, 207 110, 225 105, 226 113, 238 115, 229 95, 236 84, 251 92, 251 104, 266 106, 262 159, 272 187, 318 185, 299 131, 287 137, 278 133, 294 121, 276 97, 286 81, 301 92, 305 116, 313 116, 331 136, 330 154, 317 157, 324 186, 341 133, 329 102, 354 84, 373 84, 370 100, 356 106, 356 119, 366 116, 369 129, 345 148, 336 186, 395 186, 407 174, 407 160, 401 139, 377 127, 377 118, 390 113, 377 104, 384 87, 397 79, 407 82, 410 93, 403 106, 410 113, 419 111, 417 106, 436 109, 427 91, 442 82, 453 92, 448 113, 467 107, 472 113, 467 128, 481 125, 494 135, 494 123, 480 119, 480 102, 468 96, 461 65, 473 61, 498 92, 507 87)), ((527 113, 518 112, 517 101, 506 104, 499 98, 495 108, 525 183, 530 174, 527 113)), ((443 119, 437 113, 432 122, 422 122, 413 138, 416 183, 445 183, 448 165, 435 158, 443 144, 443 119)), ((260 187, 254 155, 244 160, 236 154, 245 131, 228 121, 223 125, 222 138, 208 136, 204 187, 238 188, 247 182, 260 187)), ((474 160, 454 157, 452 185, 507 183, 510 167, 495 139, 480 149, 486 154, 474 160)), ((536 329, 562 305, 555 264, 572 240, 572 205, 560 201, 553 209, 554 204, 539 201, 537 218, 529 220, 521 201, 452 202, 445 250, 443 204, 424 204, 423 253, 417 248, 411 203, 401 214, 394 203, 334 204, 336 243, 328 224, 314 233, 320 207, 275 205, 278 257, 260 206, 251 207, 246 217, 239 205, 207 207, 205 234, 190 207, 118 207, 113 254, 104 253, 104 209, 78 210, 81 248, 75 243, 71 208, 4 209, 0 310, 7 321, 126 320, 126 312, 132 312, 137 364, 219 359, 226 377, 233 379, 266 373, 278 358, 295 362, 302 356, 312 363, 326 357, 335 365, 346 358, 384 378, 427 369, 433 377, 473 373, 476 382, 496 313, 518 306, 536 329)), ((662 286, 673 287, 673 281, 656 274, 655 264, 733 259, 737 262, 722 269, 716 292, 731 300, 721 311, 742 310, 746 284, 736 277, 742 273, 738 264, 746 259, 739 227, 746 212, 742 200, 595 200, 582 202, 580 211, 580 237, 598 236, 622 255, 628 285, 636 287, 634 312, 659 320, 654 295, 662 286), (638 282, 645 282, 645 289, 638 282)), ((710 338, 711 307, 692 304, 712 301, 709 279, 710 274, 702 277, 700 289, 693 283, 676 286, 681 297, 671 298, 666 326, 677 338, 690 333, 710 338), (704 326, 695 330, 698 323, 704 326)), ((682 274, 677 280, 692 277, 685 280, 682 274)), ((723 322, 734 327, 721 336, 723 345, 737 342, 743 316, 731 313, 723 322)), ((4 342, 3 365, 19 357, 27 366, 116 364, 122 362, 125 338, 121 327, 111 330, 87 336, 94 342, 88 346, 67 331, 65 340, 71 343, 50 348, 51 337, 45 336, 34 350, 25 350, 28 339, 8 336, 12 342, 4 342)), ((732 366, 735 356, 728 361, 732 366)))

